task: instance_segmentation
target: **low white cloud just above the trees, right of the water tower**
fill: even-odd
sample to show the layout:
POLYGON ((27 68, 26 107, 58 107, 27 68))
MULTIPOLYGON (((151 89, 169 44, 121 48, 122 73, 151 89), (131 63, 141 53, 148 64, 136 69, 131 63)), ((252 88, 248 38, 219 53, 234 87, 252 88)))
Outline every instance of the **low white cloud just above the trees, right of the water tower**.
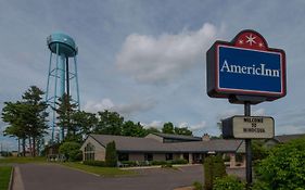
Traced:
POLYGON ((138 100, 129 104, 115 104, 111 99, 103 99, 101 102, 88 101, 85 104, 85 111, 97 113, 99 111, 110 110, 123 115, 130 115, 137 112, 144 112, 154 107, 154 100, 138 100))

